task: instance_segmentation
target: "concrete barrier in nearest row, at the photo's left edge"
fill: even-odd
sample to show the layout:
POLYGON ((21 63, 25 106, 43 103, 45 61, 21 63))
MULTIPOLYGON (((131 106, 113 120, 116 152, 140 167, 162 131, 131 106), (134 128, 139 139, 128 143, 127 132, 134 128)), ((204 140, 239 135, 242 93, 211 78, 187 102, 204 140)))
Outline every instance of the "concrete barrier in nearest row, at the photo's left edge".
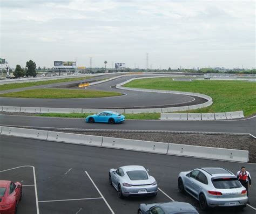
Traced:
POLYGON ((32 139, 46 140, 46 138, 48 136, 48 131, 3 126, 1 134, 2 135, 17 136, 17 137, 26 137, 26 138, 32 138, 32 139))

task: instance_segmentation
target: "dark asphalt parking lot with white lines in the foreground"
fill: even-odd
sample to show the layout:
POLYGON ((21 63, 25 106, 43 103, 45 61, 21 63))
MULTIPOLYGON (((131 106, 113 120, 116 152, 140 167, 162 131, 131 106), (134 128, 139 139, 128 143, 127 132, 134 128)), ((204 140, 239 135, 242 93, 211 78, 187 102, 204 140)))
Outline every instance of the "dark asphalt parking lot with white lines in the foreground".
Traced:
MULTIPOLYGON (((196 206, 200 214, 255 213, 255 210, 249 206, 242 212, 236 209, 202 212, 195 199, 178 192, 177 176, 180 171, 197 167, 222 166, 232 172, 237 172, 241 163, 80 146, 2 135, 0 135, 0 150, 0 171, 24 165, 35 167, 37 191, 35 191, 31 167, 0 172, 1 180, 20 181, 24 185, 23 199, 18 207, 20 214, 37 213, 36 193, 41 214, 111 213, 110 209, 114 213, 131 214, 137 212, 140 203, 168 202, 171 201, 169 197, 175 201, 191 203, 196 206), (108 171, 110 168, 130 164, 144 165, 149 168, 150 174, 158 181, 159 188, 169 197, 159 190, 157 197, 119 199, 117 191, 108 183, 108 171)), ((251 206, 255 208, 255 164, 242 163, 242 165, 245 165, 251 172, 253 185, 250 189, 250 201, 251 206)))

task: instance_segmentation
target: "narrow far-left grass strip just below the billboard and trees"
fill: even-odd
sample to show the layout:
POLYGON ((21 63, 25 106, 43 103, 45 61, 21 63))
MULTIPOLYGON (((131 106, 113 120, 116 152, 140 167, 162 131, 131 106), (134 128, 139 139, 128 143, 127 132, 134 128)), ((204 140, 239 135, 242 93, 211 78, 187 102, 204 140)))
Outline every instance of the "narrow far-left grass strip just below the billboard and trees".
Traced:
POLYGON ((37 81, 37 82, 22 82, 22 83, 4 84, 4 85, 0 85, 0 91, 5 91, 5 90, 10 90, 10 89, 15 89, 15 88, 25 88, 25 87, 31 87, 31 86, 48 85, 48 84, 54 84, 54 83, 59 83, 59 82, 85 80, 85 79, 90 79, 90 78, 93 78, 93 77, 64 78, 64 79, 46 80, 46 81, 37 81))

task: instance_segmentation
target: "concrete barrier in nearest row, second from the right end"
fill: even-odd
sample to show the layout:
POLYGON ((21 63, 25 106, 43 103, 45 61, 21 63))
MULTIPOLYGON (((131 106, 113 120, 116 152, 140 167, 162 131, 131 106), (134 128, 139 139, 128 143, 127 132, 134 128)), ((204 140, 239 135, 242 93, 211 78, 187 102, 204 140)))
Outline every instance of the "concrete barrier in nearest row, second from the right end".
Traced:
POLYGON ((103 137, 102 146, 127 150, 148 151, 151 153, 163 154, 166 154, 168 150, 168 143, 118 139, 113 137, 103 137))

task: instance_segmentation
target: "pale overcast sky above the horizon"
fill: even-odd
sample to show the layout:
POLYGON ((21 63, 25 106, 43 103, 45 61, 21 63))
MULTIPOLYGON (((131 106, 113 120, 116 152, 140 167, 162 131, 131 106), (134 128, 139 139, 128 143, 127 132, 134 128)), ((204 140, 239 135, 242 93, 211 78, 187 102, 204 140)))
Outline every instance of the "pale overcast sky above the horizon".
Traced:
POLYGON ((255 67, 255 3, 225 0, 0 0, 10 67, 255 67))

